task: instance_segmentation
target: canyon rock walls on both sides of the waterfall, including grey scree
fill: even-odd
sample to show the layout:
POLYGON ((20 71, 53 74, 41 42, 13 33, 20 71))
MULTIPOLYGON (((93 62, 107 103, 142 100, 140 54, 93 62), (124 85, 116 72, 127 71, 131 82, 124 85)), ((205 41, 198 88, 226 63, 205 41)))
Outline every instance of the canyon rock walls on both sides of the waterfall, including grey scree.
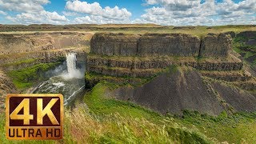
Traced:
POLYGON ((254 111, 255 71, 233 50, 238 37, 254 39, 255 32, 0 34, 1 94, 19 92, 8 78, 10 71, 63 62, 75 52, 78 61, 86 62, 86 89, 114 82, 119 87, 110 93, 122 101, 162 114, 254 111))

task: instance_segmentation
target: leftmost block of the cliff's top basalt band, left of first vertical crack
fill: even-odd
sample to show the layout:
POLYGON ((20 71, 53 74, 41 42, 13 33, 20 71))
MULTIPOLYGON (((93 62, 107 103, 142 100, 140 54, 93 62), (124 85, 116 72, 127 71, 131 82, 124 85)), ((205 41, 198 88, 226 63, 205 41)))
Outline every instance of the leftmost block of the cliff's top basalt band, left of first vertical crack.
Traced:
POLYGON ((137 54, 138 38, 135 34, 94 34, 90 42, 91 52, 104 55, 130 56, 137 54))

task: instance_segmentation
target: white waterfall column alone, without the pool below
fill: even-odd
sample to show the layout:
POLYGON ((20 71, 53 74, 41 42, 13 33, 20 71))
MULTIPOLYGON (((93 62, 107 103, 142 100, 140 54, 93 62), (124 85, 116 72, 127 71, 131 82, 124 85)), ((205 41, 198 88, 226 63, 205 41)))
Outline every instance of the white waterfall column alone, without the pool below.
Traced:
POLYGON ((66 54, 67 74, 63 75, 64 78, 82 78, 82 73, 76 68, 77 54, 72 52, 66 54))

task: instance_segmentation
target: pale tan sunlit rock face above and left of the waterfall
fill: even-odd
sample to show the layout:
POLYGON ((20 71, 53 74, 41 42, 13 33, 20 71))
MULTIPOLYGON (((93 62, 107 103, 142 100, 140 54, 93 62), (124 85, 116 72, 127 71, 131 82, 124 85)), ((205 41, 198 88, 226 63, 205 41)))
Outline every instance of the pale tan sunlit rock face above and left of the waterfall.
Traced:
POLYGON ((0 34, 0 55, 88 46, 92 34, 0 34))

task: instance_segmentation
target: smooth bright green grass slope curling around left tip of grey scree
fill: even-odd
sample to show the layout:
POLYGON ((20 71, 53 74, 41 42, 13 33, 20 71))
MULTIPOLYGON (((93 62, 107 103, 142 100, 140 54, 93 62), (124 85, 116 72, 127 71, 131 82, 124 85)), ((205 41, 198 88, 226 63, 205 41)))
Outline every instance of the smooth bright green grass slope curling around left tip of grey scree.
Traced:
POLYGON ((154 111, 146 110, 131 102, 122 102, 112 98, 104 98, 106 90, 116 87, 112 83, 98 83, 89 94, 86 94, 85 102, 90 111, 95 114, 114 114, 134 116, 135 118, 158 118, 160 115, 154 111), (128 111, 127 111, 128 110, 128 111))

